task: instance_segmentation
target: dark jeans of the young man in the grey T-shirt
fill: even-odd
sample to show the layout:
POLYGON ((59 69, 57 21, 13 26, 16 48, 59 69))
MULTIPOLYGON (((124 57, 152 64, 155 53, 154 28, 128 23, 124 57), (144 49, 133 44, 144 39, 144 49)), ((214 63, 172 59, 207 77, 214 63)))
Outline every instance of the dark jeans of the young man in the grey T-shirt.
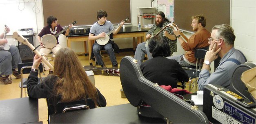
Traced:
POLYGON ((96 57, 96 60, 97 60, 98 64, 102 65, 103 60, 102 60, 101 55, 100 55, 100 50, 106 50, 107 53, 109 54, 112 65, 113 66, 117 65, 116 56, 115 56, 115 52, 113 50, 112 44, 110 44, 110 43, 107 43, 106 45, 99 45, 97 43, 93 44, 93 54, 96 57))

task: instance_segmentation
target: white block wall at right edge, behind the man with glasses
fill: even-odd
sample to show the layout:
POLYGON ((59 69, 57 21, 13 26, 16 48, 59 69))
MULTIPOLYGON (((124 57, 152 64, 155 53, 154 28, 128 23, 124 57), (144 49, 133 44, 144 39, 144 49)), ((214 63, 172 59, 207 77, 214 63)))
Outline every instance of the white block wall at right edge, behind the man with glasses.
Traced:
POLYGON ((232 0, 231 26, 234 28, 235 48, 247 61, 256 63, 256 0, 232 0))

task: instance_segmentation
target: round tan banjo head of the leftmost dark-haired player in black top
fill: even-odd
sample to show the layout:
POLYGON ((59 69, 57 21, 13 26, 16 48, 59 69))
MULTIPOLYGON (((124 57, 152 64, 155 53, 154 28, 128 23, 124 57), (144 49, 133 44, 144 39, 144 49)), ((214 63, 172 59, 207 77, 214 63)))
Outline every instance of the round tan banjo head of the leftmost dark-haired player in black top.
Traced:
POLYGON ((51 49, 57 44, 57 39, 51 34, 44 35, 42 37, 42 44, 45 48, 51 49))

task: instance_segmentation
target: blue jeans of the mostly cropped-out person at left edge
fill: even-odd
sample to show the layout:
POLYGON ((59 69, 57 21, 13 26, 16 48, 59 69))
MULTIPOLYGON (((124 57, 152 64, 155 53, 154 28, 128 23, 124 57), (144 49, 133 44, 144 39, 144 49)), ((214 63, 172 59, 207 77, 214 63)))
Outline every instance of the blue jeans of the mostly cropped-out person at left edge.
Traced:
POLYGON ((19 49, 10 46, 10 49, 0 51, 0 72, 1 75, 12 74, 12 69, 18 68, 18 63, 22 63, 19 49))

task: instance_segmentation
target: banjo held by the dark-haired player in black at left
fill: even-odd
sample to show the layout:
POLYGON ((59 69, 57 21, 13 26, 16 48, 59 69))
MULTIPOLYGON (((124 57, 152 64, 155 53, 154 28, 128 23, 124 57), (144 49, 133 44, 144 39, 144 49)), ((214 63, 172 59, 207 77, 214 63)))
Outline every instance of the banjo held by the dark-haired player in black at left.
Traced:
MULTIPOLYGON (((77 22, 74 21, 72 23, 72 25, 75 25, 77 22)), ((42 38, 41 38, 41 41, 42 41, 42 44, 45 48, 53 48, 56 46, 57 44, 57 39, 56 37, 58 37, 60 34, 62 34, 64 31, 66 31, 67 29, 69 29, 69 26, 67 26, 65 29, 63 29, 62 31, 60 31, 58 34, 56 35, 51 35, 51 34, 47 34, 47 35, 44 35, 42 38)))

